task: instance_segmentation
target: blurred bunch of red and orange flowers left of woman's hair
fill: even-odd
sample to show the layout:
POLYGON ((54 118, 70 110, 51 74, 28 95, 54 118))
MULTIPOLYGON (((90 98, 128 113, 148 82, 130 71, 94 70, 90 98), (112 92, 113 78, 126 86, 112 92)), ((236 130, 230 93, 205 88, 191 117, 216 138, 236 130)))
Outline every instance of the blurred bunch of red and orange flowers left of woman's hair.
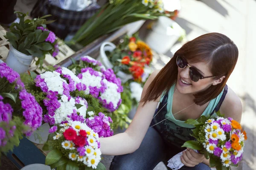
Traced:
POLYGON ((132 74, 134 80, 142 82, 148 77, 144 68, 152 61, 151 48, 145 42, 134 37, 126 36, 124 42, 120 43, 111 54, 108 55, 110 62, 114 65, 115 72, 123 71, 132 74))

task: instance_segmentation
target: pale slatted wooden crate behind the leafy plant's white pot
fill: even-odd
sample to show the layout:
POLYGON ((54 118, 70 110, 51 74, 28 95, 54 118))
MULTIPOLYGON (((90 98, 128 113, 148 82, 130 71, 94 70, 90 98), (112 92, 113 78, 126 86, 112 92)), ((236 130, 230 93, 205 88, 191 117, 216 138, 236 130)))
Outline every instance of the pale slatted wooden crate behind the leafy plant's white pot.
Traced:
MULTIPOLYGON (((6 40, 4 35, 6 35, 6 30, 0 25, 0 59, 5 62, 7 54, 9 52, 9 42, 6 40)), ((43 66, 49 66, 49 65, 57 65, 58 63, 62 62, 64 59, 67 59, 71 55, 75 54, 75 51, 73 51, 69 46, 67 46, 62 40, 58 39, 59 43, 59 54, 56 57, 52 57, 52 55, 47 54, 44 59, 43 66)), ((39 70, 35 62, 38 60, 37 57, 35 57, 35 60, 32 61, 29 70, 35 71, 38 74, 43 73, 45 70, 39 70)))

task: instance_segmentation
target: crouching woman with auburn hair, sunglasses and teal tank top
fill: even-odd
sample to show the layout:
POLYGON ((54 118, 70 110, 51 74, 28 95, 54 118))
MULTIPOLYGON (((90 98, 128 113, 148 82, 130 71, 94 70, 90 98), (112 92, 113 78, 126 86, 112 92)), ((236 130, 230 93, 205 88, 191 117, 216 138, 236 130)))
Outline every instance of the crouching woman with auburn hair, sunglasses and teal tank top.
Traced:
MULTIPOLYGON (((119 155, 110 170, 153 170, 160 161, 167 164, 193 139, 186 119, 220 111, 240 122, 241 101, 226 85, 237 59, 238 48, 223 34, 204 34, 183 45, 148 78, 128 129, 100 139, 102 154, 119 155)), ((210 170, 209 160, 192 149, 180 159, 185 165, 180 170, 210 170)))

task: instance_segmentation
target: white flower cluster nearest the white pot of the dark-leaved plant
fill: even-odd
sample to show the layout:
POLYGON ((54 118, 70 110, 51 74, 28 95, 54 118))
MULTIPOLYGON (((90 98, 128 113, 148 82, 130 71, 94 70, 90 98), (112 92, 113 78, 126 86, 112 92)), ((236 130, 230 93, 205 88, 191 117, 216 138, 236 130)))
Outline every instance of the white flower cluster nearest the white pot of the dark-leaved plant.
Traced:
POLYGON ((46 71, 44 74, 41 74, 41 78, 46 82, 48 91, 57 91, 58 94, 63 94, 63 82, 67 83, 67 81, 62 79, 58 72, 46 71))

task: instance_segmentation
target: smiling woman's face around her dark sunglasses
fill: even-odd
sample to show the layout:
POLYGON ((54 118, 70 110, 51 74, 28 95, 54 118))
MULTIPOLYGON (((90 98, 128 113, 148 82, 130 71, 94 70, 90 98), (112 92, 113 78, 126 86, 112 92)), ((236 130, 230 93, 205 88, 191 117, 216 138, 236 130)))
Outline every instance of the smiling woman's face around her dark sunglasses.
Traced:
MULTIPOLYGON (((213 76, 209 70, 209 64, 206 62, 196 62, 189 63, 189 65, 195 68, 203 77, 213 76)), ((199 91, 203 91, 206 88, 209 88, 215 80, 213 78, 199 79, 198 82, 193 82, 189 78, 189 66, 186 68, 178 67, 178 77, 177 77, 177 90, 182 94, 194 94, 199 91), (187 82, 189 84, 183 83, 187 82)))

